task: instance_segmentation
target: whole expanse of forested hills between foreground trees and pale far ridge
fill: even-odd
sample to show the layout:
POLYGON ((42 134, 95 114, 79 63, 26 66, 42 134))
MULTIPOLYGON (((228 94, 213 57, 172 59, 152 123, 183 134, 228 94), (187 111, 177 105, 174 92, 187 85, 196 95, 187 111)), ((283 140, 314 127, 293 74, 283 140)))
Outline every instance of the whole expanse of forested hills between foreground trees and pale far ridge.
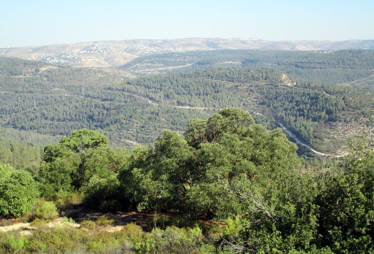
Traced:
POLYGON ((157 59, 168 67, 180 64, 173 59, 187 57, 196 62, 184 70, 203 69, 130 79, 111 69, 1 58, 0 122, 3 128, 48 135, 48 140, 75 129, 97 129, 113 146, 129 148, 152 143, 163 129, 183 132, 190 118, 241 107, 267 128, 281 124, 303 143, 336 155, 346 153, 349 137, 373 130, 373 51, 209 51, 157 57, 133 64, 157 59), (237 66, 217 68, 220 64, 237 66), (352 84, 337 85, 342 82, 352 84))

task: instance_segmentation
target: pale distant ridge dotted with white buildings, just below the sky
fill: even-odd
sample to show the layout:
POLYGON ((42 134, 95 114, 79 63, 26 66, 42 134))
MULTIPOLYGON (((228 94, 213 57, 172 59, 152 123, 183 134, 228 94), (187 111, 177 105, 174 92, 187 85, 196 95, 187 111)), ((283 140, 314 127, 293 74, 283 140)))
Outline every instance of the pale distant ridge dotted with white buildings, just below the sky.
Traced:
POLYGON ((341 50, 374 49, 374 40, 267 41, 246 38, 188 38, 176 40, 122 40, 69 43, 49 46, 2 48, 0 56, 13 56, 73 67, 117 67, 139 56, 170 52, 210 51, 221 49, 259 50, 341 50))

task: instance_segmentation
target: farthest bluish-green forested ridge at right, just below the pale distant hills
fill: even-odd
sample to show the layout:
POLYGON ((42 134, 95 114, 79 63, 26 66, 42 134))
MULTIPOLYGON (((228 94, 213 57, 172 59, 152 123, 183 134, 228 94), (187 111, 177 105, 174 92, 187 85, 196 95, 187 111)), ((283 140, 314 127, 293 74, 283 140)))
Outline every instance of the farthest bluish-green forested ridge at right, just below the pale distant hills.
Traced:
POLYGON ((220 50, 142 56, 123 65, 137 74, 192 71, 224 66, 269 67, 310 82, 339 84, 373 75, 373 50, 220 50))

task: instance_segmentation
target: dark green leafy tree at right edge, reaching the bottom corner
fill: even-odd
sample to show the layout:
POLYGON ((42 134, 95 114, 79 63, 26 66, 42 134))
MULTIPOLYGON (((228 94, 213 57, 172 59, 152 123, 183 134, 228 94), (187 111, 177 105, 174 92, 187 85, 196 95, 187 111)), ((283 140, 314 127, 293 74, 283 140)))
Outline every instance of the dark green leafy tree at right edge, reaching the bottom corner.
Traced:
POLYGON ((374 154, 364 136, 351 143, 343 174, 327 176, 319 196, 321 245, 337 253, 374 251, 374 154))

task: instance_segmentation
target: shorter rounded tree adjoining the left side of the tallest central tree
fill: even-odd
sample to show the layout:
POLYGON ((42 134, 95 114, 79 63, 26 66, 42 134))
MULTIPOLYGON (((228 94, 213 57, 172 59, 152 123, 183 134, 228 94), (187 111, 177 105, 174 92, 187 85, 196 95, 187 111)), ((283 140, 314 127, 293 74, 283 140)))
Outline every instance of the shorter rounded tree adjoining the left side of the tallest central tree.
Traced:
POLYGON ((129 176, 138 209, 180 208, 191 188, 188 163, 192 149, 178 132, 164 130, 152 149, 140 147, 132 152, 129 176))

